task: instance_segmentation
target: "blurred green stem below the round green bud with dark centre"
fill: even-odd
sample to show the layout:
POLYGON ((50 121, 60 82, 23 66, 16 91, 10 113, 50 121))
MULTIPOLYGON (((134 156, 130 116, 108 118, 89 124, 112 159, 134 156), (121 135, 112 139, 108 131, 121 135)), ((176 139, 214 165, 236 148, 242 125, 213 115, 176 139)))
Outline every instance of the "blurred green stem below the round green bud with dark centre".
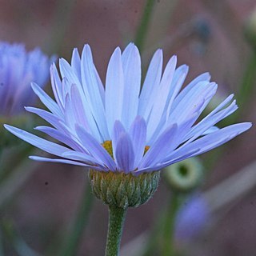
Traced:
POLYGON ((173 194, 170 199, 170 205, 166 210, 166 222, 163 230, 163 247, 162 256, 174 255, 174 228, 176 221, 176 214, 179 207, 178 194, 173 194))

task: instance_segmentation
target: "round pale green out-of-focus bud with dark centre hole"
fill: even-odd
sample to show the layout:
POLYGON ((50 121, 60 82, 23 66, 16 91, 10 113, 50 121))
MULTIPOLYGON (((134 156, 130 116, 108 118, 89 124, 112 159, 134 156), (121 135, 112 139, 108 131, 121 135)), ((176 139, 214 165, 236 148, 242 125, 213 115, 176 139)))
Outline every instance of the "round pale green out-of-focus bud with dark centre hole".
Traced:
POLYGON ((202 182, 203 168, 199 158, 190 158, 166 167, 162 173, 171 190, 189 193, 202 182))

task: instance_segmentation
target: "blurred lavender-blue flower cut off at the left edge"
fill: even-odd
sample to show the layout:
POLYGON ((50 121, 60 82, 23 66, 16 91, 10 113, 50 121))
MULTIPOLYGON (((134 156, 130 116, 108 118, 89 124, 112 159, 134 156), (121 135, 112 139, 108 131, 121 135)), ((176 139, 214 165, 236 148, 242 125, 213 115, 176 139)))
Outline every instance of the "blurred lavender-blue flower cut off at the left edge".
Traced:
POLYGON ((52 61, 38 48, 26 52, 22 44, 0 42, 0 115, 21 114, 34 102, 30 82, 44 86, 52 61))

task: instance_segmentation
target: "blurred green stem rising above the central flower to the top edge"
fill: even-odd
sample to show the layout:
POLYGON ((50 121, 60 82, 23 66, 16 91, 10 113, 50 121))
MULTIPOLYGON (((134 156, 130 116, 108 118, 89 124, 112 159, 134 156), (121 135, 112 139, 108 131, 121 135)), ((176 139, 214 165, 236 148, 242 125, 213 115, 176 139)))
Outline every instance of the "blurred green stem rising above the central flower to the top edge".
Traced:
POLYGON ((138 26, 138 30, 135 36, 135 44, 138 46, 138 49, 142 51, 144 42, 146 39, 146 33, 149 29, 150 17, 153 13, 154 4, 156 0, 147 0, 144 12, 142 14, 141 22, 138 26))

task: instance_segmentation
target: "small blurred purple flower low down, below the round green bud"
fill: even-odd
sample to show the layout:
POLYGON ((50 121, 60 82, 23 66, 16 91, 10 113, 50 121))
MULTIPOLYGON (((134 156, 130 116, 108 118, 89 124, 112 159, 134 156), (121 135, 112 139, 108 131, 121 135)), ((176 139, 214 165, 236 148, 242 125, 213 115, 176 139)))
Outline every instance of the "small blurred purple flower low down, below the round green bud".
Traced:
POLYGON ((178 211, 174 231, 175 238, 178 241, 194 238, 209 222, 210 211, 206 200, 201 196, 191 197, 178 211))

